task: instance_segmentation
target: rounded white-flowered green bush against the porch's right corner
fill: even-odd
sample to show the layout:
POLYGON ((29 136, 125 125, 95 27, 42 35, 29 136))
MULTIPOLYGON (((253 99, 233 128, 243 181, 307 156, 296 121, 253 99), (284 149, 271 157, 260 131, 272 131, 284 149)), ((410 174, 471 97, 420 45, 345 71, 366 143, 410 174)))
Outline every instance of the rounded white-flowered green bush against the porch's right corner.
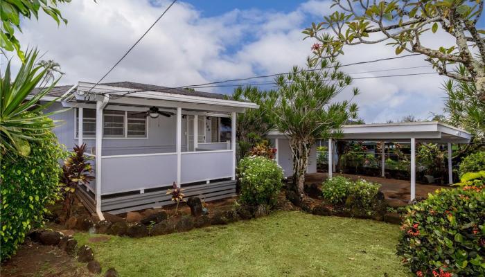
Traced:
POLYGON ((247 205, 276 204, 283 186, 283 170, 276 161, 261 156, 239 161, 240 199, 247 205))

